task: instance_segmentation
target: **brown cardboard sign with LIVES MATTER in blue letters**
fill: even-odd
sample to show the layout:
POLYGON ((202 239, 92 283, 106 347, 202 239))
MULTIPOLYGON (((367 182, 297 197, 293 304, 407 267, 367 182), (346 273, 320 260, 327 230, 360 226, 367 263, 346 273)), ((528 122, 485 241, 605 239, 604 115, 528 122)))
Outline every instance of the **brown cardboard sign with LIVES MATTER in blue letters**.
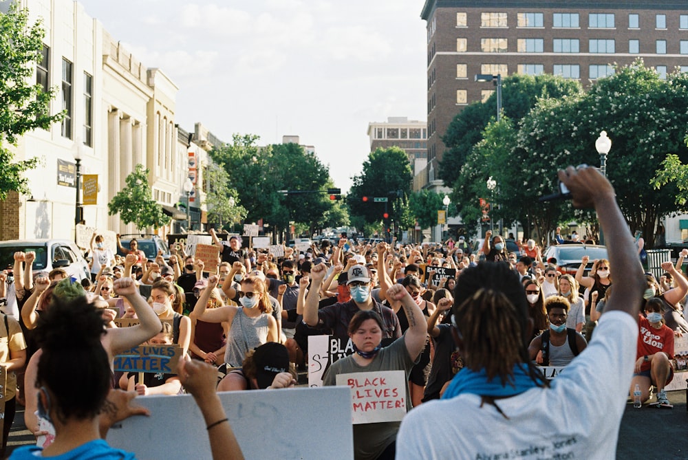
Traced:
POLYGON ((114 371, 173 374, 181 357, 179 345, 140 345, 116 355, 114 371))

